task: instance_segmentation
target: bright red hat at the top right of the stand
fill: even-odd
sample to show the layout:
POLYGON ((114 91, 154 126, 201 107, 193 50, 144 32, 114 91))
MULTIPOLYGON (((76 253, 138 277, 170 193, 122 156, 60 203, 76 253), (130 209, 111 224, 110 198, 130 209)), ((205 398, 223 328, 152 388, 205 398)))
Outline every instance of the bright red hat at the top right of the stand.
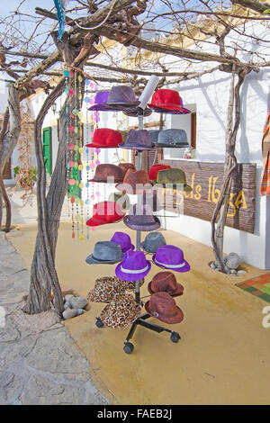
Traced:
MULTIPOLYGON (((165 112, 176 112, 179 114, 190 113, 191 111, 183 107, 183 101, 178 91, 160 89, 152 95, 149 107, 163 109, 165 112)), ((158 112, 158 110, 157 110, 158 112)), ((160 111, 159 111, 160 112, 160 111)))

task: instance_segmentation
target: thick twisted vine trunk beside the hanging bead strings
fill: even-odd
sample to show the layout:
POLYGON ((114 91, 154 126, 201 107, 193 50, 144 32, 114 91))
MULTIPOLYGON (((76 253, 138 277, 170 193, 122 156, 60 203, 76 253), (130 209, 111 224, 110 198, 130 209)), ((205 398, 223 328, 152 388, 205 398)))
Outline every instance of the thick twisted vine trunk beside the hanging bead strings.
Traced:
MULTIPOLYGON (((89 41, 89 36, 86 40, 89 41)), ((73 67, 82 67, 85 59, 88 58, 91 51, 91 42, 87 47, 83 47, 76 56, 76 47, 71 46, 66 36, 61 42, 57 42, 58 49, 61 51, 66 63, 73 67)), ((62 78, 58 86, 49 94, 43 104, 39 116, 35 122, 35 146, 38 159, 38 184, 37 184, 37 202, 39 211, 38 235, 36 246, 31 264, 31 285, 24 311, 29 314, 48 311, 51 308, 50 293, 51 290, 55 299, 55 309, 61 314, 64 309, 58 275, 55 267, 55 254, 58 241, 58 227, 62 211, 63 202, 67 192, 67 120, 66 103, 60 112, 60 132, 57 162, 51 178, 49 193, 46 197, 46 169, 41 142, 41 129, 45 115, 49 107, 65 88, 65 78, 62 78)), ((82 86, 84 90, 84 85, 82 86)), ((71 108, 77 106, 76 99, 72 100, 71 108)))

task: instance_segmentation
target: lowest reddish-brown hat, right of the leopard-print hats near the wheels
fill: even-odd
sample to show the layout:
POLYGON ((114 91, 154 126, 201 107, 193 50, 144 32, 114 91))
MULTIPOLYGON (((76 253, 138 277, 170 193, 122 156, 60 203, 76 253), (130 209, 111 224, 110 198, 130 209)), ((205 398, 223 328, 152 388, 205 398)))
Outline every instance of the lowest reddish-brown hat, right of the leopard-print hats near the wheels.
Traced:
POLYGON ((184 319, 183 311, 177 307, 169 293, 153 293, 145 303, 145 310, 165 323, 180 323, 184 319))

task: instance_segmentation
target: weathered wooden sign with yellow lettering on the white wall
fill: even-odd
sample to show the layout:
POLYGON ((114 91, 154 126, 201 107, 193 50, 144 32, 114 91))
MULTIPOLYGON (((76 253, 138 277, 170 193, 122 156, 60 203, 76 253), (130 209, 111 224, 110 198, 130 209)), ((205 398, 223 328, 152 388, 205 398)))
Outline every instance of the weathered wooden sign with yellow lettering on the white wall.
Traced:
MULTIPOLYGON (((191 193, 178 191, 173 208, 169 210, 174 211, 182 205, 184 214, 211 221, 220 198, 224 164, 188 160, 162 160, 162 163, 183 170, 186 183, 193 188, 191 193)), ((256 164, 238 164, 229 195, 226 226, 254 233, 255 198, 256 164)))

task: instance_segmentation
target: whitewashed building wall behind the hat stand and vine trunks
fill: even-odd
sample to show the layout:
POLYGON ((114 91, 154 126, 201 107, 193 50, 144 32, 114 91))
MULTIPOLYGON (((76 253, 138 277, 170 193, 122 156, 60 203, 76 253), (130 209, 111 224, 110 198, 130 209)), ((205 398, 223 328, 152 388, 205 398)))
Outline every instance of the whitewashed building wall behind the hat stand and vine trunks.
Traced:
MULTIPOLYGON (((257 31, 257 35, 264 38, 267 31, 264 24, 257 23, 255 30, 247 26, 246 31, 257 31)), ((196 46, 199 49, 200 46, 196 46)), ((252 47, 252 46, 251 46, 252 47)), ((217 47, 213 47, 216 52, 217 47)), ((250 49, 250 46, 248 47, 250 49)), ((254 49, 260 51, 260 46, 255 45, 254 49)), ((261 53, 264 51, 262 49, 261 53)), ((243 59, 247 61, 247 53, 243 53, 243 59), (245 56, 245 57, 244 57, 245 56)), ((168 62, 166 57, 166 63, 168 62)), ((97 58, 99 60, 99 58, 97 58)), ((181 60, 179 64, 172 58, 170 70, 181 71, 181 60)), ((212 63, 211 63, 212 65, 212 63)), ((209 64, 208 66, 211 67, 209 64)), ((213 66, 213 65, 212 65, 213 66)), ((194 66, 193 70, 199 70, 201 65, 194 66)), ((153 65, 154 69, 154 65, 153 65)), ((202 69, 200 69, 202 70, 202 69)), ((206 74, 197 79, 182 82, 180 85, 166 86, 179 91, 184 100, 184 107, 189 108, 193 113, 187 115, 166 115, 165 129, 180 128, 187 132, 189 142, 194 142, 194 122, 196 158, 194 162, 202 163, 224 163, 225 156, 225 130, 227 123, 227 105, 229 100, 230 74, 219 70, 206 74)), ((224 236, 224 252, 234 251, 249 265, 262 269, 270 268, 270 200, 260 196, 260 182, 262 175, 262 153, 261 140, 262 131, 266 121, 266 113, 270 104, 270 70, 265 68, 260 72, 251 72, 247 75, 244 85, 241 88, 241 122, 238 130, 236 156, 238 163, 253 163, 257 165, 256 175, 256 197, 255 197, 255 230, 250 233, 244 230, 226 227, 224 236)), ((45 94, 36 94, 31 97, 32 112, 37 115, 40 104, 45 94)), ((58 99, 56 110, 58 111, 64 98, 58 99)), ((85 105, 84 105, 85 107, 85 105)), ((86 112, 84 112, 86 115, 86 112)), ((127 118, 121 113, 101 112, 100 128, 112 128, 125 130, 136 125, 135 118, 127 118)), ((146 122, 158 121, 157 113, 152 113, 146 118, 146 122)), ((51 128, 51 170, 56 161, 58 148, 58 123, 56 114, 51 110, 44 121, 44 128, 51 128)), ((157 128, 154 128, 157 129, 157 128)), ((85 143, 90 140, 89 126, 85 123, 85 143)), ((183 149, 164 149, 164 160, 174 160, 175 164, 181 167, 186 162, 183 158, 183 149)), ((131 160, 131 154, 120 150, 120 157, 131 160), (128 155, 129 154, 129 155, 128 155), (123 156, 121 156, 123 155, 123 156)), ((100 157, 101 163, 117 164, 115 150, 103 149, 100 157)), ((85 180, 85 174, 83 174, 85 180)), ((100 188, 100 200, 107 199, 111 188, 103 186, 100 188)), ((85 193, 83 190, 83 198, 85 193)), ((133 202, 133 200, 132 200, 133 202)), ((187 215, 179 215, 178 218, 170 217, 171 213, 166 212, 166 229, 173 229, 186 237, 211 246, 211 223, 187 215)))

